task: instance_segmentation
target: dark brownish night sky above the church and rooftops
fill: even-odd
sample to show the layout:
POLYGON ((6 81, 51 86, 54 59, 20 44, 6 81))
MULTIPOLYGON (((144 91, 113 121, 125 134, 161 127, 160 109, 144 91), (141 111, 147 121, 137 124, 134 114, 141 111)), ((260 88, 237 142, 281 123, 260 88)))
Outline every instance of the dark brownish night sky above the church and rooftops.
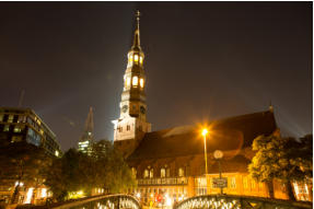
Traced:
POLYGON ((33 108, 75 147, 89 107, 113 140, 135 25, 153 130, 275 107, 283 136, 313 128, 312 2, 0 2, 0 106, 33 108))

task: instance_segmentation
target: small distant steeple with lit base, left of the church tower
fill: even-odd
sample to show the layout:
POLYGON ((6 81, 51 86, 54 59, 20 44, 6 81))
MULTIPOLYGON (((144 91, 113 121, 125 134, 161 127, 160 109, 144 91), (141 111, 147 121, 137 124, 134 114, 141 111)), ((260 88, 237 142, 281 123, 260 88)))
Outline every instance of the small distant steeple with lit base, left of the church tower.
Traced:
POLYGON ((90 112, 85 121, 85 127, 82 137, 79 140, 79 151, 90 153, 94 141, 94 119, 93 107, 90 107, 90 112))

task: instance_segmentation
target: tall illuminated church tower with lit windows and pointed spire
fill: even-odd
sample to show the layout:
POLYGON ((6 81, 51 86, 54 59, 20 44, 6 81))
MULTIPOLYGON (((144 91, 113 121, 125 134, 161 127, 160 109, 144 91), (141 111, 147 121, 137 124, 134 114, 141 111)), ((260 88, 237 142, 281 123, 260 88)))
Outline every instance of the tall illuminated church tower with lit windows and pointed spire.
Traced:
POLYGON ((114 120, 114 146, 125 158, 132 153, 146 132, 151 131, 147 121, 144 54, 140 46, 140 12, 136 14, 137 25, 133 44, 128 53, 124 76, 124 91, 120 102, 120 117, 114 120))

